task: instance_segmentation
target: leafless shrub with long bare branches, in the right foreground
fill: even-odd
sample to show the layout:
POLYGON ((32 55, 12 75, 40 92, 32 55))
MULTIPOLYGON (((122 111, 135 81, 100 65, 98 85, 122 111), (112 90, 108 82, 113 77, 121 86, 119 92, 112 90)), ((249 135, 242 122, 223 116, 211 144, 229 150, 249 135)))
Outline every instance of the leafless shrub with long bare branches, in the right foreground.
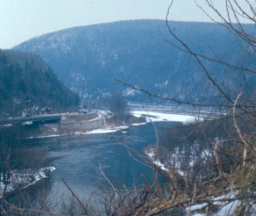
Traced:
MULTIPOLYGON (((255 25, 255 3, 253 1, 242 1, 243 4, 236 0, 226 0, 225 14, 222 14, 215 7, 213 1, 205 1, 206 5, 202 6, 198 1, 195 3, 207 16, 218 25, 224 26, 231 31, 236 37, 241 38, 243 43, 247 44, 248 51, 255 51, 255 35, 251 31, 247 31, 241 20, 249 20, 255 25), (246 8, 241 7, 246 5, 246 8), (213 18, 213 15, 218 20, 213 18), (220 20, 220 21, 219 21, 220 20)), ((227 194, 230 191, 235 192, 236 196, 232 199, 226 199, 227 203, 238 201, 236 211, 232 212, 237 215, 250 215, 255 205, 255 93, 251 92, 250 96, 243 95, 239 89, 232 89, 232 94, 226 91, 223 83, 219 83, 213 76, 211 71, 205 64, 206 61, 214 62, 229 68, 233 73, 241 72, 245 75, 254 76, 253 67, 232 64, 224 59, 212 59, 204 54, 198 54, 189 47, 189 44, 179 37, 169 22, 169 15, 172 14, 172 3, 166 14, 167 29, 177 43, 170 43, 174 48, 183 50, 190 54, 201 66, 201 70, 205 73, 208 80, 223 98, 220 105, 210 103, 194 103, 191 101, 182 101, 158 94, 153 94, 147 89, 138 88, 126 82, 122 82, 129 88, 136 89, 152 97, 165 99, 177 104, 193 105, 194 107, 219 107, 219 110, 225 111, 226 115, 219 117, 218 120, 202 122, 191 126, 175 128, 168 131, 172 134, 172 139, 166 137, 165 148, 173 148, 172 144, 177 145, 183 143, 177 152, 166 155, 165 148, 159 150, 164 158, 172 157, 169 160, 169 177, 171 179, 170 196, 161 200, 160 204, 151 200, 150 203, 155 209, 148 209, 148 215, 160 213, 167 208, 177 206, 189 206, 198 202, 208 202, 206 211, 210 206, 214 206, 211 201, 212 196, 227 194), (223 110, 224 108, 224 110, 223 110), (171 141, 171 143, 170 143, 171 141), (192 148, 188 146, 193 146, 192 148), (171 146, 171 147, 170 147, 171 146), (207 151, 207 154, 205 154, 207 151), (173 156, 179 155, 177 160, 173 160, 173 156), (190 157, 193 164, 189 164, 190 157), (177 162, 179 162, 177 166, 177 162), (180 174, 180 169, 183 174, 180 174)), ((251 64, 252 65, 252 64, 251 64)), ((241 85, 246 83, 241 82, 241 85)), ((163 159, 164 160, 164 159, 163 159)), ((168 160, 167 160, 168 161, 168 160)), ((211 207, 210 207, 211 208, 211 207)), ((214 209, 214 207, 212 208, 214 209)), ((215 208, 216 210, 216 208, 215 208)))

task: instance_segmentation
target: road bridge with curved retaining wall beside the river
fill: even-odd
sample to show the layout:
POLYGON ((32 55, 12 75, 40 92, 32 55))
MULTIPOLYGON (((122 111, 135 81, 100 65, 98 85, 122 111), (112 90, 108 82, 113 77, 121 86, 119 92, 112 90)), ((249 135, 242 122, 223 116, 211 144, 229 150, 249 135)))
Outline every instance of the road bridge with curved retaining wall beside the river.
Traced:
POLYGON ((21 126, 24 137, 75 134, 104 127, 106 117, 109 114, 105 111, 12 117, 0 119, 0 128, 21 126))

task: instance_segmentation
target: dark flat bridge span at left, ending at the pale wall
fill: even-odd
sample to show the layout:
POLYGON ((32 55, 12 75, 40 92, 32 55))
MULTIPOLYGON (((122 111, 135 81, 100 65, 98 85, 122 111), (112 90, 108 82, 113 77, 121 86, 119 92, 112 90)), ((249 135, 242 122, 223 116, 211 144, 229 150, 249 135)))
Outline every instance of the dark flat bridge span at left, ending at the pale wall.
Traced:
POLYGON ((61 114, 52 115, 38 115, 32 117, 13 117, 7 119, 0 119, 0 125, 6 124, 26 124, 26 122, 48 124, 61 122, 61 114))

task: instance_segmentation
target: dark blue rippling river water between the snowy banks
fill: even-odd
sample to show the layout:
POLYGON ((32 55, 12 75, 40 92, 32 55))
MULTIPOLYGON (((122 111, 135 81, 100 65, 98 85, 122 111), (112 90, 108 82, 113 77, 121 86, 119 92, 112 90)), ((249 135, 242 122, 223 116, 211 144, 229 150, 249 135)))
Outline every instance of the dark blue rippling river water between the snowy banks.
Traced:
MULTIPOLYGON (((162 128, 176 125, 177 122, 155 122, 159 139, 162 128)), ((139 188, 145 184, 145 179, 150 182, 153 170, 141 162, 138 154, 144 156, 144 149, 155 145, 155 142, 154 126, 148 123, 113 134, 32 139, 27 140, 26 145, 27 148, 42 148, 52 158, 49 165, 56 170, 47 180, 47 196, 51 202, 55 202, 58 197, 70 195, 61 179, 65 179, 82 199, 91 195, 100 196, 102 188, 110 188, 102 171, 115 187, 123 189, 139 188), (128 151, 129 148, 132 150, 128 151)))

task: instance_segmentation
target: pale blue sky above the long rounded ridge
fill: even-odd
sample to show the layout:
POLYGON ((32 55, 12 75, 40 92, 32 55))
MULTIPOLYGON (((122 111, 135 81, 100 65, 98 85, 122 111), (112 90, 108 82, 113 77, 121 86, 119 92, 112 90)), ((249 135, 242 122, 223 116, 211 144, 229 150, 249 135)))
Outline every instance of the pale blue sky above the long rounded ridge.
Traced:
MULTIPOLYGON (((117 20, 164 20, 170 2, 171 0, 0 0, 0 48, 13 48, 32 37, 74 26, 117 20)), ((224 8, 224 0, 215 2, 220 9, 224 8)), ((170 20, 209 21, 193 0, 176 0, 170 20)))

